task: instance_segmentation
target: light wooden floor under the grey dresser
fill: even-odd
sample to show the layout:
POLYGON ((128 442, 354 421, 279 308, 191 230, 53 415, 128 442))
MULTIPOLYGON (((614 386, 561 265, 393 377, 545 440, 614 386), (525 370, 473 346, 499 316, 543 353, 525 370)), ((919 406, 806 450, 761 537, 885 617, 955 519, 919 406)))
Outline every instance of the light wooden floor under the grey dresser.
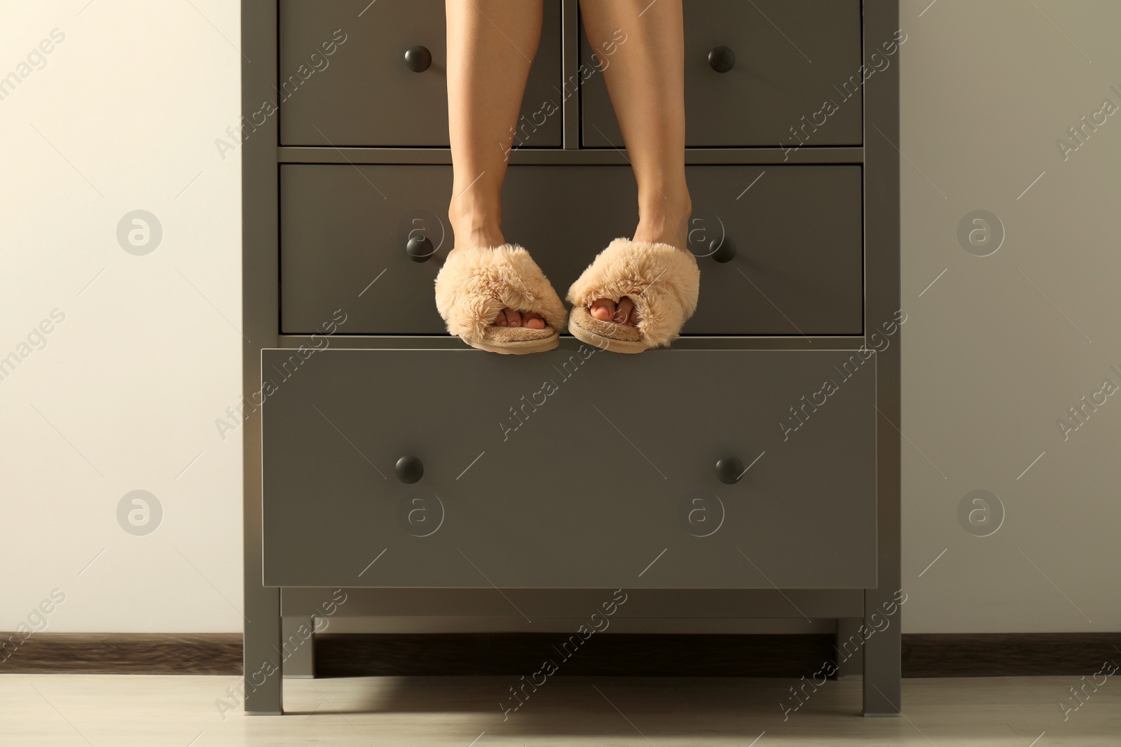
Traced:
POLYGON ((1078 678, 904 680, 904 718, 863 718, 860 682, 828 682, 784 721, 786 680, 557 676, 503 722, 515 680, 287 680, 289 715, 223 720, 235 678, 7 674, 0 745, 1121 745, 1114 678, 1065 721, 1078 678))

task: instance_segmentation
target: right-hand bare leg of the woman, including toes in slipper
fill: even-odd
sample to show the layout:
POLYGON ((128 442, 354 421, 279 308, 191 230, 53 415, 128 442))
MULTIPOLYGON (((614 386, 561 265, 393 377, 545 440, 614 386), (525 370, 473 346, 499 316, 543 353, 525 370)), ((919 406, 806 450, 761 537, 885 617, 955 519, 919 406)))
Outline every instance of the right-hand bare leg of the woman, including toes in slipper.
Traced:
MULTIPOLYGON (((581 0, 580 10, 589 41, 606 60, 603 77, 634 168, 639 220, 633 239, 688 251, 693 204, 685 184, 682 0, 581 0), (613 54, 605 55, 612 44, 613 54)), ((627 297, 618 308, 611 299, 593 301, 591 314, 604 321, 638 323, 627 297)))

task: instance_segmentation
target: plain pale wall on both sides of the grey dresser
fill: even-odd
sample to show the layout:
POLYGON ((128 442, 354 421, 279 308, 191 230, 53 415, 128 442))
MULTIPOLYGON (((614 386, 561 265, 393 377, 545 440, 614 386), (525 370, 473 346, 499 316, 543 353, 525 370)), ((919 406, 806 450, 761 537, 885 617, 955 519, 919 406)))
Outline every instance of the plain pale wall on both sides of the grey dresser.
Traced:
MULTIPOLYGON (((1121 104, 1121 6, 928 3, 904 0, 899 58, 904 629, 1121 629, 1121 403, 1067 441, 1056 426, 1121 384, 1121 115, 1066 161, 1055 146, 1102 99, 1121 104), (986 258, 956 239, 979 208, 1007 228, 986 258), (991 536, 958 524, 973 489, 1006 507, 991 536)), ((52 631, 241 628, 240 433, 214 427, 240 381, 240 165, 214 146, 238 120, 238 12, 4 6, 0 75, 52 29, 65 39, 0 100, 0 356, 53 309, 65 319, 0 381, 0 629, 53 589, 52 631), (135 209, 164 231, 146 255, 117 240, 135 209), (163 506, 151 534, 118 523, 135 489, 163 506)))

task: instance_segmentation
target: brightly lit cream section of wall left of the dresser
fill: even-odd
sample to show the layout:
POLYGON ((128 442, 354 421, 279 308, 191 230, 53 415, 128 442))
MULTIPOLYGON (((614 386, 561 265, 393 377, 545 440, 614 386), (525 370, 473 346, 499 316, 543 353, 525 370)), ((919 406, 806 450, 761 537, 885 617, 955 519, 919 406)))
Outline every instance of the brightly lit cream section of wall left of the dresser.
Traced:
POLYGON ((239 395, 241 176, 214 139, 239 8, 87 2, 4 2, 0 24, 0 76, 65 35, 0 100, 0 356, 65 315, 0 381, 0 629, 57 588, 50 631, 237 631, 241 443, 214 419, 239 395), (163 226, 147 255, 117 240, 133 209, 163 226), (117 521, 135 489, 164 511, 146 536, 117 521))

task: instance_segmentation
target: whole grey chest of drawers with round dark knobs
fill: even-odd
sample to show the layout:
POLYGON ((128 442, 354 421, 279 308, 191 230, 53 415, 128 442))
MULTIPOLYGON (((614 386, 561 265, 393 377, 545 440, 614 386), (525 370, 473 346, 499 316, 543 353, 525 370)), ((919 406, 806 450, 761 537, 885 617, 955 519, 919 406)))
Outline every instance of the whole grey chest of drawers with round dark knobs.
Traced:
MULTIPOLYGON (((685 0, 701 304, 633 360, 444 334, 441 0, 242 8, 245 710, 306 673, 298 622, 626 589, 636 618, 836 619, 864 712, 898 713, 896 0, 685 0)), ((564 289, 637 218, 575 0, 545 0, 522 118, 503 230, 564 289)))

